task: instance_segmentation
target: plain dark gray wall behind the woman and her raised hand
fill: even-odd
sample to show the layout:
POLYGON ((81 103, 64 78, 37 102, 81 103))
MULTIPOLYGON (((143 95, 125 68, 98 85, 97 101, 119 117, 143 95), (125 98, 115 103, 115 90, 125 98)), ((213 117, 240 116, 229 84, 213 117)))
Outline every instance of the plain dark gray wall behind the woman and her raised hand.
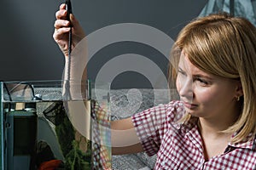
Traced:
MULTIPOLYGON (((61 79, 64 59, 52 34, 55 11, 62 2, 1 0, 1 80, 61 79)), ((207 0, 73 0, 72 3, 73 13, 87 34, 104 26, 131 22, 153 26, 175 39, 177 32, 200 14, 207 0)), ((89 77, 93 80, 105 62, 126 53, 148 58, 160 55, 154 49, 135 42, 113 44, 102 48, 91 59, 89 77)), ((167 62, 163 56, 152 59, 166 71, 167 62)), ((124 72, 113 81, 113 88, 132 87, 150 88, 150 84, 146 77, 135 72, 124 72)))

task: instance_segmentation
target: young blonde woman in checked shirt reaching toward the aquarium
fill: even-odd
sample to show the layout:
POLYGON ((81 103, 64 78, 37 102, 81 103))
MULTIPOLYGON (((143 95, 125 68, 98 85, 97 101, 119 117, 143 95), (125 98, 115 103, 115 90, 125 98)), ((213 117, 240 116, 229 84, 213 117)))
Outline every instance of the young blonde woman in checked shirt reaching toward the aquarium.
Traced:
MULTIPOLYGON (((84 31, 66 16, 61 5, 54 38, 67 56, 68 26, 74 46, 84 31)), ((198 18, 179 33, 170 60, 180 100, 112 122, 113 154, 157 154, 155 169, 255 169, 256 28, 228 14, 198 18), (134 140, 123 138, 127 131, 134 140)))

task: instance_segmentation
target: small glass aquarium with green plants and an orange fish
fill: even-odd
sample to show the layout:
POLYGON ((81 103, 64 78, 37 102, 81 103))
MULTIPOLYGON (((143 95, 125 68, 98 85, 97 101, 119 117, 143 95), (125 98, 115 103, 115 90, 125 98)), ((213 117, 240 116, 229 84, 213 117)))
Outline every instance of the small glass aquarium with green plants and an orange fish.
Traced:
POLYGON ((108 83, 0 87, 2 169, 111 169, 108 83))

